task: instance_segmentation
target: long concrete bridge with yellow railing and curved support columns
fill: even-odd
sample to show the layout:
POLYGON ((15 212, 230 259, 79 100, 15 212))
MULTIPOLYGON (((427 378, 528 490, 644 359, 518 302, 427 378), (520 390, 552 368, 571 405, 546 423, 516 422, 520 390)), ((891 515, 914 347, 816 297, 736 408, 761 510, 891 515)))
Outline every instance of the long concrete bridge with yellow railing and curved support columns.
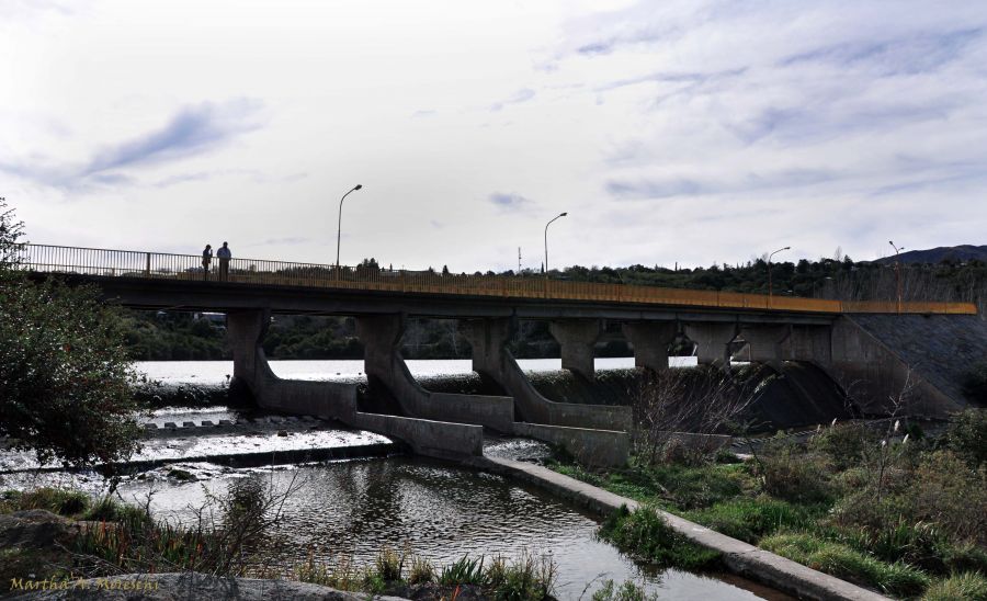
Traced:
MULTIPOLYGON (((593 345, 603 324, 616 321, 639 367, 668 367, 676 336, 695 343, 700 363, 724 368, 744 342, 745 360, 779 370, 783 361, 812 362, 844 386, 853 383, 858 399, 873 411, 910 387, 912 406, 926 413, 955 410, 965 400, 935 378, 921 377, 915 360, 875 336, 881 328, 862 327, 855 316, 867 316, 872 325, 935 316, 952 326, 983 327, 974 326, 983 325, 974 305, 957 303, 846 303, 253 259, 203 265, 196 256, 38 245, 25 245, 20 258, 35 273, 97 284, 124 306, 226 313, 235 381, 262 407, 338 419, 445 457, 480 454, 483 428, 560 444, 588 463, 626 457, 629 408, 543 397, 507 349, 520 319, 549 321, 563 367, 586 378, 593 377, 593 345), (354 385, 274 375, 261 342, 279 313, 355 317, 370 386, 394 404, 386 412, 363 411, 354 385), (457 319, 473 347, 474 370, 507 396, 422 388, 400 354, 409 317, 457 319)), ((987 343, 987 333, 978 340, 987 343)))

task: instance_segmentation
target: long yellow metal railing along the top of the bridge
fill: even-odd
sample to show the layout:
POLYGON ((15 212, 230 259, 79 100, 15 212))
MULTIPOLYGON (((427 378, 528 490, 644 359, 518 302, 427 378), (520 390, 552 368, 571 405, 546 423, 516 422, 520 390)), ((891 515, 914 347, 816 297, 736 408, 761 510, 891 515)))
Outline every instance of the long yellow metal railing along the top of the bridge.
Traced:
POLYGON ((19 264, 42 273, 101 277, 228 282, 309 288, 386 291, 397 293, 501 296, 549 300, 597 300, 647 305, 760 309, 793 313, 906 313, 976 315, 971 303, 843 302, 821 298, 765 296, 736 292, 662 288, 627 284, 570 282, 542 276, 440 274, 376 267, 334 267, 261 259, 231 259, 227 273, 220 260, 207 264, 200 256, 134 250, 107 250, 46 245, 22 245, 19 264))

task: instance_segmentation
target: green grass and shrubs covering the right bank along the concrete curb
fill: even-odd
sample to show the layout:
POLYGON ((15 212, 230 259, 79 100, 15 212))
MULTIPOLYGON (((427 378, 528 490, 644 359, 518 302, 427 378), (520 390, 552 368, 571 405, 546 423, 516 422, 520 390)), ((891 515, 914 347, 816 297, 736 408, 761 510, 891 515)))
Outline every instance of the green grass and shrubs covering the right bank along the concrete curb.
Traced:
MULTIPOLYGON (((985 599, 985 419, 987 410, 963 411, 937 439, 894 421, 837 423, 806 443, 780 435, 752 445, 756 458, 744 463, 659 453, 606 472, 551 466, 894 597, 985 599)), ((625 511, 601 535, 635 556, 690 565, 677 564, 662 525, 655 509, 625 511)))

